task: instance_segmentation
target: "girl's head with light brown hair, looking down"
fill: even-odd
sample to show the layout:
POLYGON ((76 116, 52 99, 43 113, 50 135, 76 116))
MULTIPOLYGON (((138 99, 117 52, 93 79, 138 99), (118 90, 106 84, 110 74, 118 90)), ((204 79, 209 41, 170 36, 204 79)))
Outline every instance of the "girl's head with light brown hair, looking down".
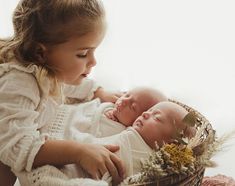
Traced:
POLYGON ((94 50, 103 39, 104 17, 99 0, 21 0, 13 15, 14 36, 1 54, 12 56, 12 50, 19 62, 37 64, 50 77, 79 84, 96 64, 94 50))

